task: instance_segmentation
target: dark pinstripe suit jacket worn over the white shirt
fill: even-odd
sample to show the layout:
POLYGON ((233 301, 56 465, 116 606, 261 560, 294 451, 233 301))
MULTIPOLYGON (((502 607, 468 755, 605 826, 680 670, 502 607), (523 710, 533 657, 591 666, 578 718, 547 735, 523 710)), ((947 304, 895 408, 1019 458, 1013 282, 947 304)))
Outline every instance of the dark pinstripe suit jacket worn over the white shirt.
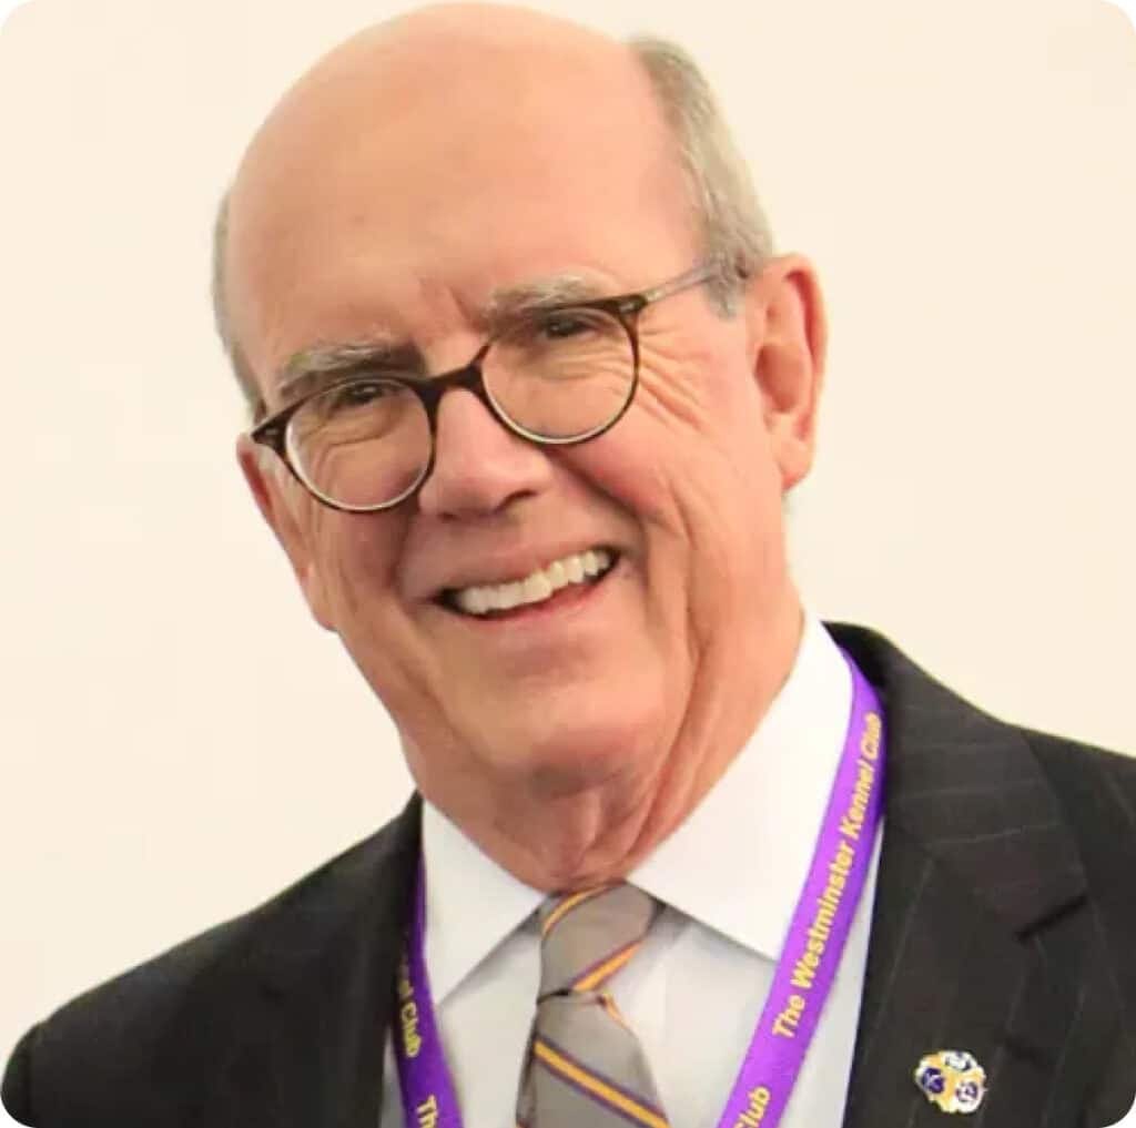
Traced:
MULTIPOLYGON (((845 1128, 943 1125, 919 1058, 969 1050, 982 1128, 1102 1128, 1136 1092, 1136 761, 982 713, 834 627, 888 724, 884 850, 845 1128)), ((375 1128, 419 804, 16 1047, 40 1128, 375 1128)), ((817 1126, 826 1128, 826 1126, 817 1126)))

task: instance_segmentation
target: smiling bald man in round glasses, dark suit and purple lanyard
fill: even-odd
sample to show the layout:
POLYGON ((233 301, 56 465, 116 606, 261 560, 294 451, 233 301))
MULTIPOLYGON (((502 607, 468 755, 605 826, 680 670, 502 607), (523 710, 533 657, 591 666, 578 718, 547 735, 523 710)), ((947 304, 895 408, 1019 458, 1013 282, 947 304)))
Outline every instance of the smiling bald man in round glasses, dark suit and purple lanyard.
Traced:
POLYGON ((677 52, 503 8, 368 31, 220 236, 242 469, 420 799, 32 1030, 17 1118, 1129 1109, 1136 764, 803 611, 820 290, 677 52))

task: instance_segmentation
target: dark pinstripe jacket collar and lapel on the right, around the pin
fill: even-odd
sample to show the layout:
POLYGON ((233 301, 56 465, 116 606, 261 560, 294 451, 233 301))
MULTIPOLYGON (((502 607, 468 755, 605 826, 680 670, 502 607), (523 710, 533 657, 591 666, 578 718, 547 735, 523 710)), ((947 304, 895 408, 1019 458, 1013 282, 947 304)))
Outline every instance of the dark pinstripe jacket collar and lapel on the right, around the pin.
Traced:
POLYGON ((967 1123, 1076 1128, 1116 1013, 1092 967, 1085 876, 1055 796, 1014 729, 883 640, 833 630, 880 691, 888 722, 845 1128, 950 1123, 912 1076, 938 1050, 970 1051, 987 1072, 967 1123))

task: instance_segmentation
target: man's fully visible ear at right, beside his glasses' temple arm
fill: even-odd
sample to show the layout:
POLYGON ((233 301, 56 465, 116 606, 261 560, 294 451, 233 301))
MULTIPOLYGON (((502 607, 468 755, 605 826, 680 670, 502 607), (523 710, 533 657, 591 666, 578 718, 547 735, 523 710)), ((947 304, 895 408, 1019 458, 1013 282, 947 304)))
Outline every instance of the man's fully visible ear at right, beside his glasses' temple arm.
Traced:
POLYGON ((787 254, 766 266, 746 301, 766 431, 787 493, 811 469, 816 450, 828 346, 824 299, 812 264, 787 254))

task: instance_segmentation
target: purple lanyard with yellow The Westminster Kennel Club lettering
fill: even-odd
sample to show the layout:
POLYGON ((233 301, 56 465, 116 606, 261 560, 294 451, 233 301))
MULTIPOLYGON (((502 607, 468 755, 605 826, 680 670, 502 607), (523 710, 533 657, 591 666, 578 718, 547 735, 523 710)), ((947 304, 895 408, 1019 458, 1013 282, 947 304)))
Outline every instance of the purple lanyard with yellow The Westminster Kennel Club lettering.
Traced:
MULTIPOLYGON (((776 1128, 816 1033, 868 876, 884 792, 884 715, 855 663, 844 752, 785 947, 718 1128, 776 1128)), ((399 963, 394 1056, 407 1128, 462 1128, 426 975, 426 880, 399 963)))

